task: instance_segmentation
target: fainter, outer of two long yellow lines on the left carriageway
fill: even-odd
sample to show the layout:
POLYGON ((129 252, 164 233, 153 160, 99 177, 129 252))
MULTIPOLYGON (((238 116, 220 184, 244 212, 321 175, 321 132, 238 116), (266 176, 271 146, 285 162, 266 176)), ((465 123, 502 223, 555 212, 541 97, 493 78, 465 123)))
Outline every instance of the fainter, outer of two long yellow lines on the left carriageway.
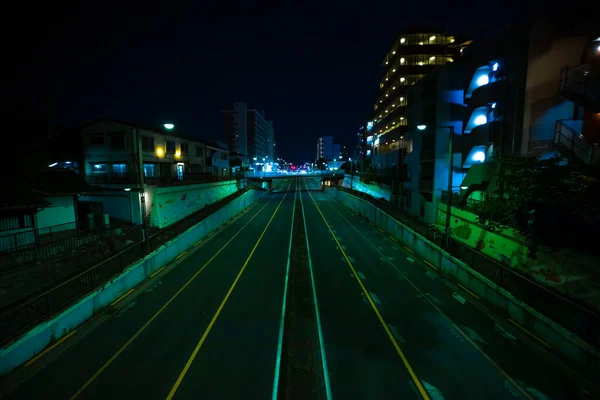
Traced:
POLYGON ((264 206, 262 206, 262 207, 261 207, 261 209, 260 209, 260 210, 258 210, 258 212, 257 212, 256 214, 254 214, 254 215, 252 216, 252 218, 250 218, 250 219, 248 220, 248 222, 246 222, 246 223, 244 224, 244 226, 242 226, 242 227, 241 227, 241 228, 240 228, 240 229, 239 229, 239 230, 238 230, 238 231, 235 233, 235 235, 233 235, 233 236, 231 237, 231 239, 229 239, 229 240, 228 240, 228 241, 227 241, 227 242, 226 242, 226 243, 225 243, 225 244, 224 244, 224 245, 223 245, 223 246, 222 246, 222 247, 221 247, 219 250, 217 250, 217 251, 216 251, 216 253, 215 253, 215 254, 214 254, 214 255, 213 255, 213 256, 212 256, 212 257, 211 257, 211 258, 210 258, 210 259, 209 259, 209 260, 208 260, 206 263, 204 263, 204 265, 203 265, 203 266, 202 266, 202 267, 201 267, 201 268, 200 268, 198 271, 196 271, 196 273, 195 273, 194 275, 192 275, 192 277, 191 277, 191 278, 190 278, 190 279, 189 279, 189 280, 188 280, 186 283, 184 283, 184 284, 183 284, 183 286, 181 286, 181 287, 179 288, 179 290, 177 290, 177 292, 175 292, 175 294, 174 294, 174 295, 173 295, 173 296, 172 296, 172 297, 171 297, 169 300, 167 300, 167 302, 166 302, 165 304, 163 304, 163 306, 162 306, 162 307, 161 307, 161 308, 160 308, 160 309, 159 309, 159 310, 158 310, 158 311, 157 311, 157 312, 156 312, 156 313, 155 313, 155 314, 154 314, 152 317, 150 317, 150 319, 149 319, 148 321, 146 321, 146 323, 145 323, 145 324, 144 324, 144 325, 143 325, 143 326, 142 326, 140 329, 138 329, 138 331, 137 331, 137 332, 136 332, 136 333, 135 333, 135 334, 134 334, 132 337, 130 337, 130 338, 129 338, 129 340, 127 340, 127 342, 125 342, 125 344, 124 344, 123 346, 121 346, 121 348, 120 348, 119 350, 117 350, 117 352, 116 352, 115 354, 113 354, 113 355, 112 355, 112 356, 111 356, 111 357, 108 359, 108 361, 106 361, 106 363, 104 363, 104 364, 103 364, 103 365, 102 365, 102 366, 101 366, 101 367, 98 369, 98 371, 96 371, 96 372, 94 373, 94 375, 92 375, 92 377, 91 377, 90 379, 88 379, 88 380, 87 380, 87 381, 86 381, 86 382, 83 384, 83 386, 81 386, 81 387, 80 387, 80 388, 79 388, 79 389, 78 389, 78 390, 77 390, 77 391, 76 391, 76 392, 73 394, 73 396, 71 396, 71 397, 69 398, 69 400, 74 400, 74 399, 76 399, 77 397, 79 397, 79 396, 80 396, 80 395, 81 395, 81 394, 82 394, 82 393, 83 393, 83 392, 84 392, 84 391, 85 391, 85 390, 86 390, 86 389, 87 389, 87 388, 88 388, 88 387, 89 387, 89 386, 90 386, 90 385, 91 385, 91 384, 92 384, 92 383, 93 383, 93 382, 94 382, 96 379, 98 379, 98 377, 99 377, 99 376, 102 374, 102 372, 104 372, 104 370, 105 370, 106 368, 108 368, 108 367, 109 367, 109 366, 110 366, 110 365, 111 365, 111 364, 112 364, 112 363, 113 363, 113 362, 114 362, 114 361, 115 361, 115 360, 116 360, 116 359, 117 359, 117 358, 118 358, 118 357, 121 355, 121 353, 123 353, 123 352, 125 351, 125 349, 127 349, 127 348, 128 348, 130 345, 131 345, 131 343, 133 343, 133 342, 135 341, 135 339, 137 339, 137 338, 138 338, 138 337, 139 337, 139 336, 142 334, 142 332, 144 332, 144 330, 146 330, 146 328, 148 328, 148 326, 150 326, 150 324, 151 324, 152 322, 154 322, 154 320, 155 320, 156 318, 158 318, 158 316, 159 316, 160 314, 162 314, 162 312, 163 312, 163 311, 164 311, 164 310, 165 310, 165 309, 166 309, 166 308, 167 308, 167 307, 168 307, 168 306, 169 306, 169 305, 170 305, 170 304, 171 304, 171 303, 172 303, 172 302, 173 302, 173 301, 174 301, 174 300, 175 300, 175 299, 176 299, 176 298, 177 298, 177 297, 178 297, 178 296, 179 296, 179 295, 180 295, 180 294, 181 294, 181 293, 182 293, 182 292, 183 292, 183 291, 184 291, 184 290, 185 290, 185 289, 186 289, 186 288, 187 288, 187 287, 188 287, 188 286, 189 286, 189 285, 190 285, 190 284, 191 284, 191 283, 194 281, 194 279, 196 279, 196 277, 197 277, 198 275, 200 275, 200 273, 201 273, 202 271, 204 271, 204 269, 205 269, 206 267, 208 267, 208 266, 210 265, 210 263, 212 263, 212 262, 213 262, 213 260, 214 260, 215 258, 217 258, 217 256, 218 256, 219 254, 221 254, 221 253, 223 252, 223 250, 225 250, 225 248, 226 248, 227 246, 229 246, 229 244, 230 244, 231 242, 233 242, 233 241, 234 241, 234 239, 235 239, 236 237, 238 237, 238 235, 239 235, 240 233, 242 233, 242 231, 243 231, 243 230, 244 230, 244 229, 245 229, 245 228, 246 228, 248 225, 250 225, 250 223, 251 223, 251 222, 254 220, 254 218, 256 218, 256 217, 258 216, 258 214, 260 214, 260 213, 262 212, 262 210, 264 210, 264 209, 265 209, 265 207, 267 207, 267 206, 269 205, 269 203, 271 203, 271 200, 267 201, 267 202, 265 203, 265 205, 264 205, 264 206))

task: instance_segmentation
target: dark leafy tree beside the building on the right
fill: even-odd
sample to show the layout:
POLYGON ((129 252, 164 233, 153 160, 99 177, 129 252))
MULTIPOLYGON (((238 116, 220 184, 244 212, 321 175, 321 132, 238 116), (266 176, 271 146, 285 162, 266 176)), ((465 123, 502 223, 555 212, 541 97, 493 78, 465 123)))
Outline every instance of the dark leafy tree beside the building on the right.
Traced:
POLYGON ((561 246, 580 240, 577 215, 590 209, 587 196, 595 179, 564 165, 559 157, 498 159, 503 174, 498 190, 474 206, 478 222, 488 230, 511 229, 535 255, 538 245, 561 246))

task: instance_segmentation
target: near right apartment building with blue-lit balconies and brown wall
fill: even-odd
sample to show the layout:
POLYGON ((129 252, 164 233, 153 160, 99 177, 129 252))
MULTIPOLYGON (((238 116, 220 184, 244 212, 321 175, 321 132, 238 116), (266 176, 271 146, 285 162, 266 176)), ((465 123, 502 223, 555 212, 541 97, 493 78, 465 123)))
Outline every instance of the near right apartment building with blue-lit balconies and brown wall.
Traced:
POLYGON ((592 35, 537 18, 472 44, 413 86, 406 210, 434 223, 450 193, 463 205, 484 200, 498 187, 498 156, 560 150, 598 164, 600 38, 592 35))

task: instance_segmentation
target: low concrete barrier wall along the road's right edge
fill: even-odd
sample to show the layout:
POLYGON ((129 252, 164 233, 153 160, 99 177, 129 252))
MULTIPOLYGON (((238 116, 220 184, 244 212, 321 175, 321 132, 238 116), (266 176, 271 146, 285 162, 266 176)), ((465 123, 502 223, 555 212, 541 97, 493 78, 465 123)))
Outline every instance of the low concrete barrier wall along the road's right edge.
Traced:
POLYGON ((505 313, 505 316, 527 327, 553 348, 585 367, 600 367, 600 350, 541 314, 510 292, 499 287, 467 264, 451 256, 425 237, 397 221, 368 201, 347 192, 332 189, 329 193, 348 208, 373 222, 395 239, 413 250, 456 283, 475 293, 505 313))

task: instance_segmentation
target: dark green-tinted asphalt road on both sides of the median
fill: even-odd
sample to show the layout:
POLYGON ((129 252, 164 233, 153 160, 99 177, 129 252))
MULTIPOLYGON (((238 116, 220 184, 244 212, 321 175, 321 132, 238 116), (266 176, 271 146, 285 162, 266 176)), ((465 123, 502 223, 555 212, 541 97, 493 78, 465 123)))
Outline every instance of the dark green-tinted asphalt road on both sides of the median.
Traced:
POLYGON ((296 204, 330 398, 576 398, 530 339, 319 189, 315 178, 276 180, 264 200, 9 376, 6 397, 272 398, 296 204))

